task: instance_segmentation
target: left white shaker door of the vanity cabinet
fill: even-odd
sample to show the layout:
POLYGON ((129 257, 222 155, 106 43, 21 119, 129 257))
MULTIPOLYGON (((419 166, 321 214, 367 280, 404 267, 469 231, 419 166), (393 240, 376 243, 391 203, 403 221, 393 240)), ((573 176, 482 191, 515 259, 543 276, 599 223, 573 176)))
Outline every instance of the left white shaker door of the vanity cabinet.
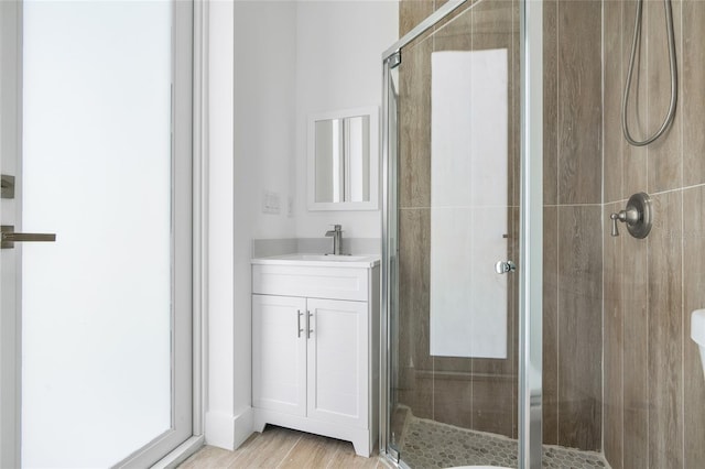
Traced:
POLYGON ((252 295, 256 407, 306 415, 306 299, 252 295))

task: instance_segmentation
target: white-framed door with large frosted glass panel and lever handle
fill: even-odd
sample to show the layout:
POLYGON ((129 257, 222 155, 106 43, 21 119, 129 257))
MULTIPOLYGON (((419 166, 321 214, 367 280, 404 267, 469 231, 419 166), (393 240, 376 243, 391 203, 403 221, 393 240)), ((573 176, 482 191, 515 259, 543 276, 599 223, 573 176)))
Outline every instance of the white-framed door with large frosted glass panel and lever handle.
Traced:
POLYGON ((2 467, 147 467, 193 433, 192 9, 0 2, 2 231, 56 233, 0 250, 2 467))

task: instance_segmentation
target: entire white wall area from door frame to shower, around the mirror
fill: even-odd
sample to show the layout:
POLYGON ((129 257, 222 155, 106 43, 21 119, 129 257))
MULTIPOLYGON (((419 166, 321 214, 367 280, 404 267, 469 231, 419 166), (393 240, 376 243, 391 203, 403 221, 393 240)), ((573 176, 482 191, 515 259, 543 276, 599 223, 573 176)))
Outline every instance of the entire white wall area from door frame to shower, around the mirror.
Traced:
POLYGON ((206 441, 251 433, 250 250, 253 238, 380 236, 380 212, 308 214, 306 114, 381 106, 381 53, 395 1, 210 1, 209 308, 206 441), (262 214, 263 193, 280 214, 262 214), (288 214, 288 197, 294 211, 288 214), (217 232, 214 232, 217 231, 217 232))

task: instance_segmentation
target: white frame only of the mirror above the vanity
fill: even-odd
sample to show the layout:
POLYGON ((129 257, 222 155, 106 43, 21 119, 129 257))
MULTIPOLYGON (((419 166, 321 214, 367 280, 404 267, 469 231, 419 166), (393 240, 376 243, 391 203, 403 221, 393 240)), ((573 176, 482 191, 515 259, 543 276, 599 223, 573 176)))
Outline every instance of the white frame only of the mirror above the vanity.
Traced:
POLYGON ((307 133, 308 210, 379 210, 379 107, 368 106, 308 114, 307 133), (368 116, 370 121, 370 199, 368 201, 316 201, 316 122, 360 116, 368 116))

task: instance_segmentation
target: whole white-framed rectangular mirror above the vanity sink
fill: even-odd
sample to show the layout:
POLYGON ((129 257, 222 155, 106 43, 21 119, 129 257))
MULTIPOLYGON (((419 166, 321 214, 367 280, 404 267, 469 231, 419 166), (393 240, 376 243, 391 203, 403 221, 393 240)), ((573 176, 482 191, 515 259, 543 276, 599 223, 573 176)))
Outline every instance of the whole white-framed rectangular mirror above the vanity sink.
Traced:
POLYGON ((308 119, 308 209, 378 209, 377 107, 308 119))

